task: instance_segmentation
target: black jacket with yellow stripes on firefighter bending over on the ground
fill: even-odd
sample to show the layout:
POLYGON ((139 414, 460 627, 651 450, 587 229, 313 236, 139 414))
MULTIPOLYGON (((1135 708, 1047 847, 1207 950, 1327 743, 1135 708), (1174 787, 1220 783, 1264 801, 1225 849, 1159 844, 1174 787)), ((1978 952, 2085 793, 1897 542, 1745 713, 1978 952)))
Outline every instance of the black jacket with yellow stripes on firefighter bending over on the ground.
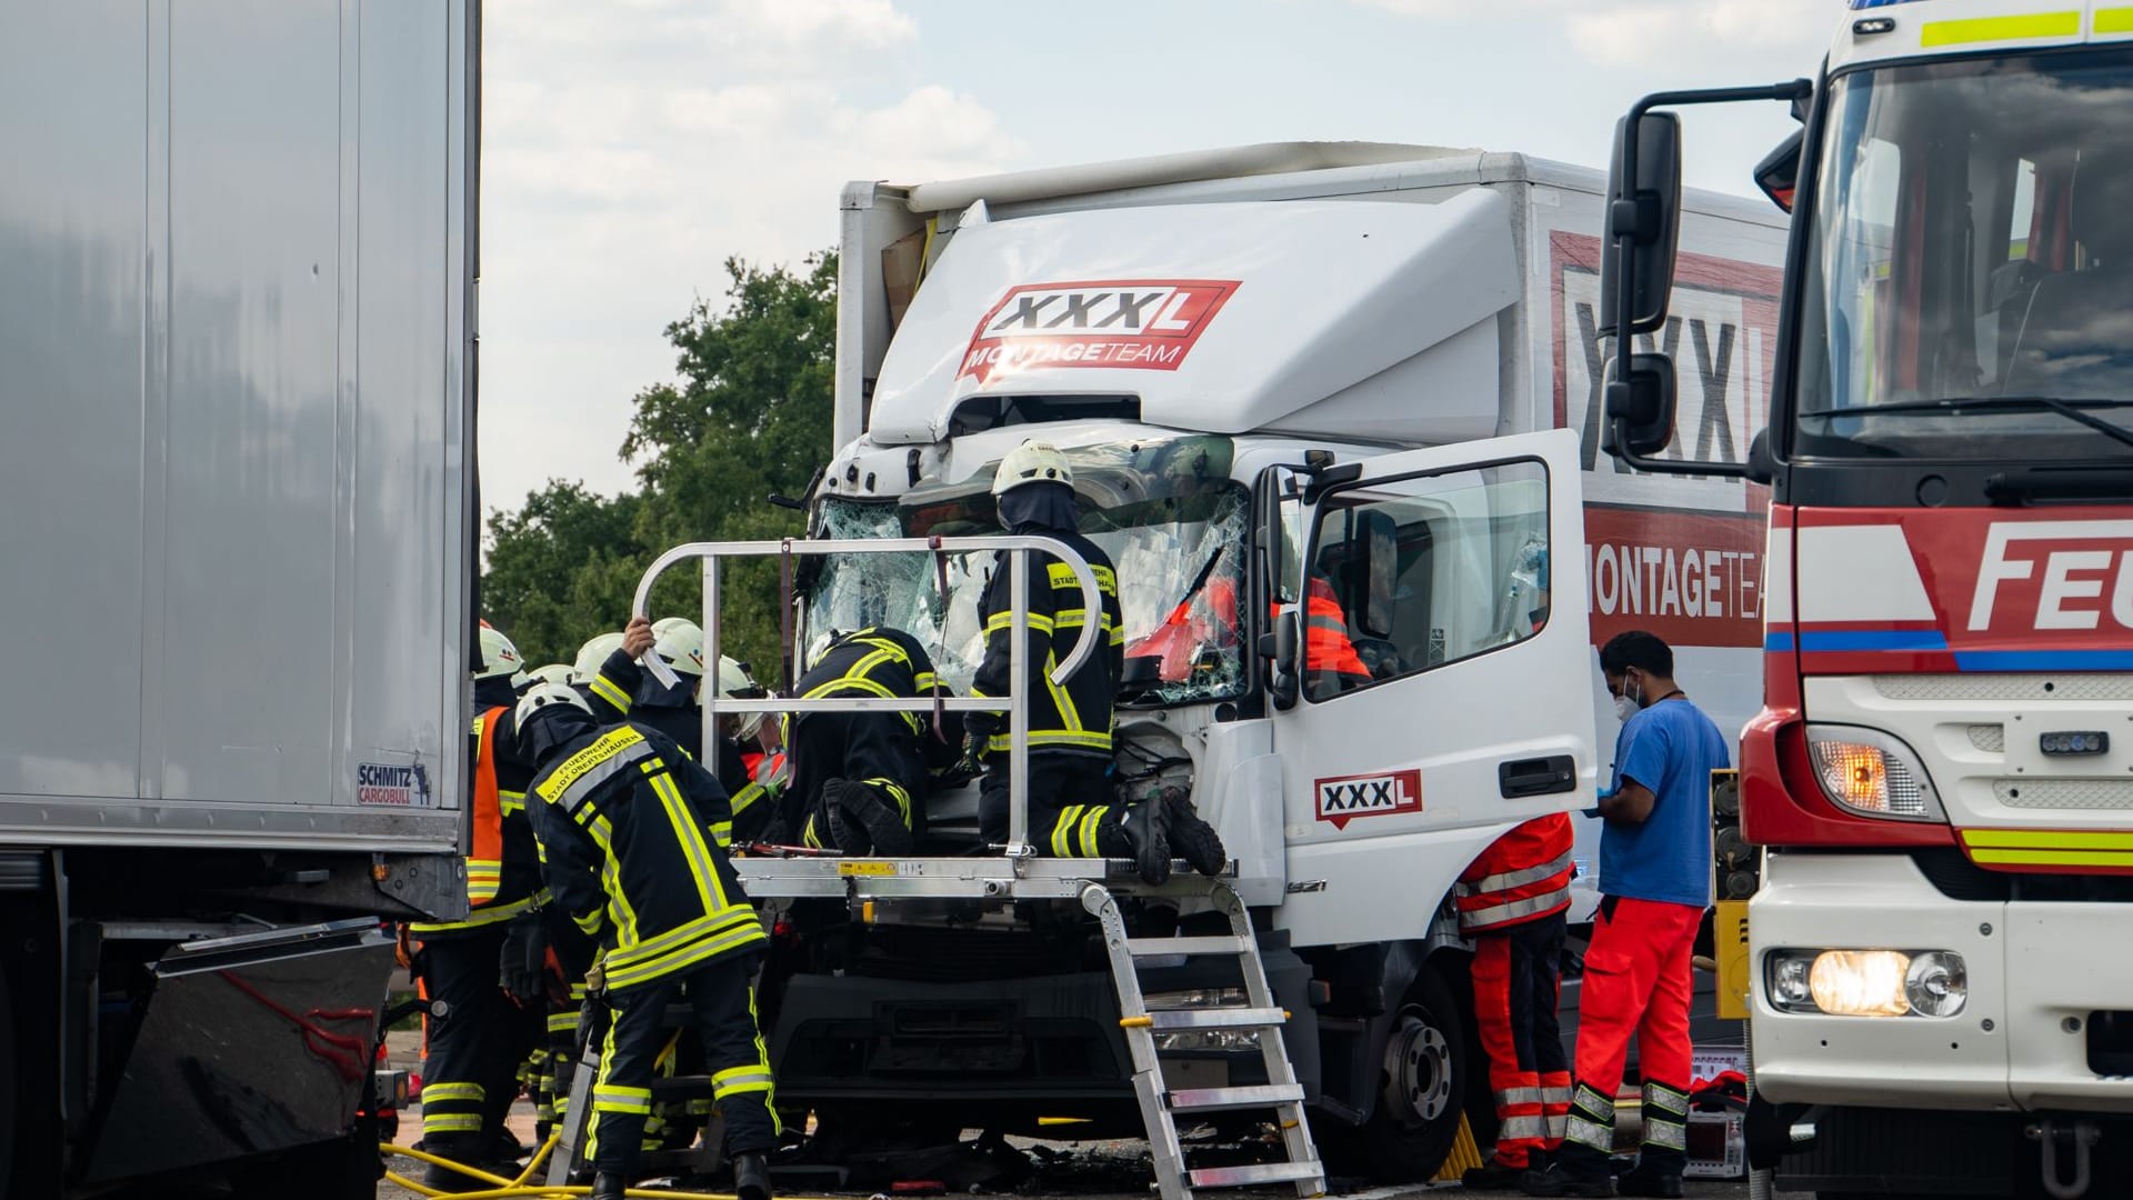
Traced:
POLYGON ((548 890, 606 948, 614 991, 755 950, 764 927, 725 858, 725 790, 638 724, 563 743, 535 775, 548 890))

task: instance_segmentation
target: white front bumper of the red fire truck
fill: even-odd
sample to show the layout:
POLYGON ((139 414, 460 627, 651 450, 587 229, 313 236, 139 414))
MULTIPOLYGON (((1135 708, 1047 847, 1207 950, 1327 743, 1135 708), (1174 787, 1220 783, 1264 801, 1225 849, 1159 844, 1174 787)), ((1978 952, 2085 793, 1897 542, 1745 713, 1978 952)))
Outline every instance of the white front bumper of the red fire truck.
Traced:
MULTIPOLYGON (((1781 1104, 2133 1112, 2118 903, 1960 901, 1907 854, 1770 854, 1749 905, 1755 1089, 1781 1104), (1954 950, 1956 1016, 1828 1016, 1770 1004, 1773 950, 1954 950)), ((2133 1042, 2129 1042, 2133 1046, 2133 1042)))

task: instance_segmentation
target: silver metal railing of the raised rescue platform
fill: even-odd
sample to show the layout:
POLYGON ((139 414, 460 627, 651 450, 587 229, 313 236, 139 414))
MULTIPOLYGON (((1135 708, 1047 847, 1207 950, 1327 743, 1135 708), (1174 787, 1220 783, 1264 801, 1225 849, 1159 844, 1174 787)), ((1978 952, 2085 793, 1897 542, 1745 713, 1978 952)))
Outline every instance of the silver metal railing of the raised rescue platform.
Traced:
MULTIPOLYGON (((687 559, 704 562, 704 677, 708 688, 702 692, 704 709, 704 745, 719 745, 719 715, 723 713, 930 713, 939 705, 941 711, 953 713, 1007 713, 1007 856, 1017 865, 1037 854, 1030 846, 1030 760, 1028 760, 1028 735, 1030 735, 1030 705, 1026 694, 1028 683, 1028 632, 1030 632, 1030 553, 1043 551, 1056 557, 1060 564, 1073 570, 1075 583, 1081 585, 1081 611, 1086 619, 1081 621, 1081 638, 1075 643, 1073 653, 1064 662, 1052 668, 1052 683, 1064 685, 1081 668, 1084 662, 1096 653, 1105 632, 1103 632, 1103 591, 1096 587, 1096 574, 1088 568, 1088 562, 1052 538, 1032 538, 1020 534, 985 536, 985 538, 819 538, 802 540, 787 538, 781 542, 689 542, 674 547, 659 555, 651 568, 644 570, 644 579, 638 581, 638 596, 631 611, 638 617, 651 617, 651 594, 653 585, 661 574, 672 570, 676 564, 687 559), (851 696, 851 698, 823 698, 823 700, 800 700, 785 696, 770 696, 764 700, 734 700, 719 696, 719 564, 736 557, 808 557, 808 555, 896 555, 896 553, 924 553, 924 555, 951 555, 951 553, 994 553, 1009 551, 1009 613, 1011 613, 1011 670, 1013 679, 1007 688, 1007 696, 915 696, 909 700, 885 698, 885 696, 851 696)), ((1049 581, 1047 581, 1049 585, 1049 581)), ((909 630, 907 630, 909 632, 909 630)), ((644 651, 642 660, 646 670, 668 688, 676 685, 676 675, 659 660, 657 653, 644 651)), ((934 664, 939 668, 939 664, 934 664)))

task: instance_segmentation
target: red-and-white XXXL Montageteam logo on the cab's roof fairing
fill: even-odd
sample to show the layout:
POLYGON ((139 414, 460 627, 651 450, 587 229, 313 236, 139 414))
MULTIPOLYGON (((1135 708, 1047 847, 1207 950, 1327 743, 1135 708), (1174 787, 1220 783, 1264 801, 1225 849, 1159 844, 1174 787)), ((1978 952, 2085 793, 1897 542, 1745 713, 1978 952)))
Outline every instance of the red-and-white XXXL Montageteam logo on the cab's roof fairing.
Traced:
POLYGON ((1028 367, 1175 372, 1237 280, 1022 284, 977 322, 962 376, 1028 367))

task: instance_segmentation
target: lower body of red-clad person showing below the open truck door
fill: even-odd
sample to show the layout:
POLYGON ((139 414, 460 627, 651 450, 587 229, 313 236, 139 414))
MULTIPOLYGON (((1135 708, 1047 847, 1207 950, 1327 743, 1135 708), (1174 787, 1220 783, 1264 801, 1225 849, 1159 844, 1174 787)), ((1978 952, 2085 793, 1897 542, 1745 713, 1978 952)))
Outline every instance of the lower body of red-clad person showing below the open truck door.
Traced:
POLYGON ((1497 837, 1459 875, 1459 933, 1474 940, 1474 1023, 1489 1053, 1495 1153, 1468 1187, 1517 1187, 1544 1170, 1570 1115, 1570 1059, 1555 1023, 1568 933, 1570 814, 1534 818, 1497 837))

